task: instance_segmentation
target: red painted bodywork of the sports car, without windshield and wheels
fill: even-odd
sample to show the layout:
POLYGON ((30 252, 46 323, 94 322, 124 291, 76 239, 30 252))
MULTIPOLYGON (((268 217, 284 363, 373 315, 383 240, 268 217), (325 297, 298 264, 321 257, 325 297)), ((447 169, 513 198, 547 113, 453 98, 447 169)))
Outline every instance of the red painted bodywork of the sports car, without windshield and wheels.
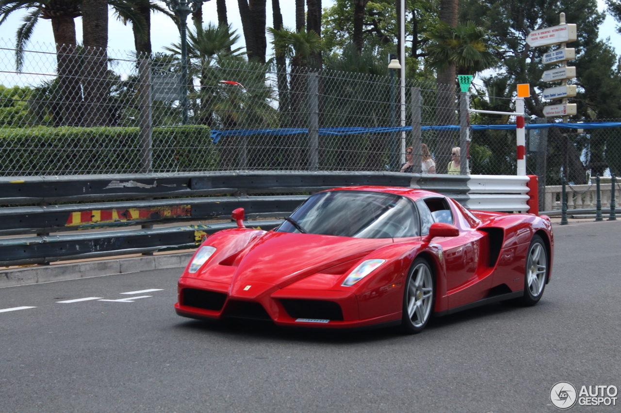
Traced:
POLYGON ((450 198, 425 190, 372 186, 335 190, 386 192, 412 201, 445 198, 460 235, 425 242, 424 236, 366 239, 247 228, 219 231, 202 244, 215 247, 215 253, 196 273, 188 271, 188 264, 179 278, 177 313, 219 319, 230 316, 232 308, 252 303, 248 305, 265 309, 266 314, 260 311, 263 319, 286 326, 343 328, 399 322, 406 275, 414 259, 424 255, 435 275, 433 310, 445 314, 496 290, 524 290, 525 260, 535 233, 546 242, 550 279, 554 239, 547 216, 468 212, 450 198), (386 262, 354 285, 343 286, 351 270, 369 259, 386 262), (199 308, 194 301, 188 305, 186 290, 215 293, 223 304, 217 309, 199 308), (294 318, 286 308, 288 300, 338 304, 342 319, 294 318))

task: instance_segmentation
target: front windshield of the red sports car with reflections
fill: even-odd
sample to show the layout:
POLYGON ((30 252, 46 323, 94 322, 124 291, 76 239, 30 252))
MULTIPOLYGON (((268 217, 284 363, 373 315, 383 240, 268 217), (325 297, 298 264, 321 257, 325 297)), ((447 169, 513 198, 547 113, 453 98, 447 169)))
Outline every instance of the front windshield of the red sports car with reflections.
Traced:
POLYGON ((329 191, 308 198, 276 229, 351 238, 402 238, 418 235, 414 203, 391 193, 329 191))

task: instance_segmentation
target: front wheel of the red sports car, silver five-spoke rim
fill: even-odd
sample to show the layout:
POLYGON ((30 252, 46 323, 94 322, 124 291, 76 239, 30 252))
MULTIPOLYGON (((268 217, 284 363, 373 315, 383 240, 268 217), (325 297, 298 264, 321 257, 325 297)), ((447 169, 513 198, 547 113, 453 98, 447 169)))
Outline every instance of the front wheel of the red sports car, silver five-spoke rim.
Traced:
POLYGON ((435 280, 427 260, 414 260, 407 274, 403 291, 401 331, 406 334, 421 332, 431 318, 435 303, 435 280))

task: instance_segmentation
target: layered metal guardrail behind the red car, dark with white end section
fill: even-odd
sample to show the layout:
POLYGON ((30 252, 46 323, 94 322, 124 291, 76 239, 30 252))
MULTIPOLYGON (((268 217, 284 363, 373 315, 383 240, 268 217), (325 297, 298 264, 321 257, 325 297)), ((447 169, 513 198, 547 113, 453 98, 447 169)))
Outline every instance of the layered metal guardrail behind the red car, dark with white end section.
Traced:
POLYGON ((0 208, 0 266, 193 248, 205 234, 236 224, 150 227, 230 220, 231 211, 242 207, 248 226, 270 229, 281 222, 270 218, 288 216, 310 193, 349 185, 427 189, 471 209, 527 211, 527 181, 494 175, 279 171, 1 177, 0 204, 11 206, 0 208), (57 204, 66 202, 73 203, 57 204), (124 226, 142 228, 119 229, 124 226))

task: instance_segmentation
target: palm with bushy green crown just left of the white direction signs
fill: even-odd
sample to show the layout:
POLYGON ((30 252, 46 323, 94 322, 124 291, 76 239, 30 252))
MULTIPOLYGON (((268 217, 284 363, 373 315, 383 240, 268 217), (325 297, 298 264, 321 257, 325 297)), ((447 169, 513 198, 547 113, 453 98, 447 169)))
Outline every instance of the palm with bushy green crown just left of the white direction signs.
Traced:
MULTIPOLYGON (((427 37, 432 40, 427 45, 428 56, 425 63, 438 73, 437 109, 435 122, 437 125, 453 125, 455 118, 455 70, 459 74, 473 74, 491 68, 498 63, 491 50, 496 47, 489 45, 489 32, 477 27, 472 22, 451 27, 440 22, 433 33, 427 37), (453 76, 443 78, 446 73, 453 76), (442 74, 442 76, 441 76, 442 74), (440 83, 440 81, 448 83, 440 83)), ((438 165, 441 170, 450 160, 451 146, 455 144, 455 134, 451 131, 437 131, 438 142, 435 147, 438 165)))

